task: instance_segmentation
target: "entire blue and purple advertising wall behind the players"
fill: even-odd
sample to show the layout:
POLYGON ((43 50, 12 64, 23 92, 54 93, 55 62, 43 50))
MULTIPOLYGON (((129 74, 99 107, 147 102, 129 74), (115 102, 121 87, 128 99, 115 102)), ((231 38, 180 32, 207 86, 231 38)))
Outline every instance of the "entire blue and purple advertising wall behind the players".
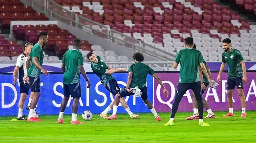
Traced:
MULTIPOLYGON (((158 112, 170 112, 174 102, 175 90, 177 87, 179 73, 157 73, 163 81, 165 87, 170 92, 168 97, 162 93, 161 86, 153 79, 152 76, 147 77, 148 99, 154 104, 158 112)), ((212 79, 217 79, 218 73, 212 73, 212 79)), ((127 73, 113 74, 121 88, 126 86, 127 73)), ((247 83, 244 84, 244 95, 246 96, 246 110, 256 110, 256 85, 255 72, 247 72, 247 83)), ((94 114, 101 113, 114 100, 114 96, 109 93, 101 84, 96 74, 88 73, 91 82, 91 88, 86 88, 86 82, 81 76, 81 92, 82 97, 79 102, 78 114, 85 110, 89 110, 94 114)), ((63 98, 63 74, 49 74, 47 77, 41 75, 41 96, 37 104, 37 112, 40 115, 58 114, 60 103, 63 98)), ((224 111, 228 109, 226 98, 226 82, 227 73, 223 73, 223 80, 216 89, 208 88, 203 94, 203 97, 208 101, 213 111, 224 111)), ((0 74, 0 116, 16 115, 18 102, 20 97, 20 89, 18 86, 13 86, 12 74, 0 74)), ((234 110, 240 110, 240 100, 237 92, 233 95, 234 110)), ((125 99, 132 112, 150 112, 147 106, 140 98, 134 96, 126 97, 125 99)), ((25 102, 27 105, 28 98, 25 102)), ((119 104, 121 106, 121 104, 119 104)), ((178 112, 193 111, 191 91, 187 91, 181 100, 178 112)), ((24 114, 29 111, 24 110, 24 114)), ((124 108, 118 108, 119 113, 126 112, 124 108)), ((72 99, 68 102, 68 107, 65 114, 72 113, 72 99)))

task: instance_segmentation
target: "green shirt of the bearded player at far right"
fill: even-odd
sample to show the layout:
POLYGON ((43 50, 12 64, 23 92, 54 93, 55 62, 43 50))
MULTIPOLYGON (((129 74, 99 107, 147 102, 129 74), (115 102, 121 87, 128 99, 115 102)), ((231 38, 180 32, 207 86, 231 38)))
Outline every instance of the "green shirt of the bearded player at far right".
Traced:
POLYGON ((229 65, 229 70, 227 72, 228 77, 243 77, 242 65, 240 64, 240 62, 243 61, 243 56, 239 50, 232 48, 230 53, 223 52, 221 58, 223 63, 227 63, 229 65))

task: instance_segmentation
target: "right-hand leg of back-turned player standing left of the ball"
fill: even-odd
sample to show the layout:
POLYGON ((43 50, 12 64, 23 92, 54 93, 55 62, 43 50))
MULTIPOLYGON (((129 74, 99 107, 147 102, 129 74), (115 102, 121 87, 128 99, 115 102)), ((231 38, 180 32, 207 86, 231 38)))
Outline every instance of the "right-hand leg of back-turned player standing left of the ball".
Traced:
POLYGON ((71 97, 73 97, 73 104, 72 104, 72 124, 84 124, 83 122, 79 122, 76 119, 77 111, 78 111, 78 102, 81 97, 81 86, 80 83, 69 84, 69 91, 71 97))

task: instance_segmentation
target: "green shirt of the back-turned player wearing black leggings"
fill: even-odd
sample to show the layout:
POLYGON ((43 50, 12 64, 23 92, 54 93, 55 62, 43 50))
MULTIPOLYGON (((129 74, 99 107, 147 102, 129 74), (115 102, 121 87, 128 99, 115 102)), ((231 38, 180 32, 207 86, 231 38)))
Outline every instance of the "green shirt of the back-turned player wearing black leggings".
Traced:
POLYGON ((174 60, 177 64, 180 63, 180 83, 195 83, 200 81, 197 66, 204 62, 203 56, 196 49, 181 49, 174 60))

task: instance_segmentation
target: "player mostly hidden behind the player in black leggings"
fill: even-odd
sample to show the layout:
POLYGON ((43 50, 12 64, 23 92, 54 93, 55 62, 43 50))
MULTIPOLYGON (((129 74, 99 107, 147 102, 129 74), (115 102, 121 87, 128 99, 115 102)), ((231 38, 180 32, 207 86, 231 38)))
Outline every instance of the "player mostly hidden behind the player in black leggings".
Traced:
MULTIPOLYGON (((193 45, 193 49, 196 49, 196 44, 193 45)), ((207 73, 211 79, 211 71, 205 61, 204 61, 204 66, 206 67, 207 73)), ((197 69, 198 69, 198 74, 199 74, 199 78, 201 81, 201 88, 202 88, 201 94, 203 95, 204 91, 206 91, 207 86, 209 85, 209 81, 207 80, 207 77, 204 75, 204 73, 202 73, 200 65, 198 65, 197 69)), ((196 101, 196 96, 195 96, 194 92, 192 93, 192 99, 193 99, 194 114, 191 115, 190 117, 186 118, 187 120, 199 119, 199 114, 198 114, 198 109, 197 109, 197 101, 196 101)), ((214 115, 213 111, 211 111, 211 108, 209 107, 209 104, 207 103, 207 101, 204 98, 202 98, 202 99, 203 99, 203 106, 204 106, 204 108, 206 108, 206 110, 208 112, 208 115, 205 118, 215 118, 215 115, 214 115)))

